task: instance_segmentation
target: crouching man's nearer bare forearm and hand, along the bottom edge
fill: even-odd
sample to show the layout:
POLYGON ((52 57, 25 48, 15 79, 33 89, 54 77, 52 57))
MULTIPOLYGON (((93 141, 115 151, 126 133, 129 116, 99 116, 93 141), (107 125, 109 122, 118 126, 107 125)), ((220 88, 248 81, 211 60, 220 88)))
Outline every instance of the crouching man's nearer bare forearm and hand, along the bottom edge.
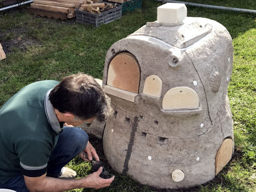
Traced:
POLYGON ((77 188, 94 188, 100 189, 109 186, 114 177, 107 180, 100 178, 102 167, 97 172, 89 174, 89 176, 81 179, 65 180, 53 177, 46 177, 46 174, 40 177, 24 176, 27 189, 34 191, 68 191, 77 188))

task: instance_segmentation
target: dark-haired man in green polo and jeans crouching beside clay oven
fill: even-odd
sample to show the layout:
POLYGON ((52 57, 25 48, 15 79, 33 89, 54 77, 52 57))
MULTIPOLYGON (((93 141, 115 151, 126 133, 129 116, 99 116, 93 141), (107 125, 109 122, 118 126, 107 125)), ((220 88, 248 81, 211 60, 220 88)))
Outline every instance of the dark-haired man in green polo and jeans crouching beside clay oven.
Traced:
POLYGON ((77 155, 99 160, 86 132, 76 126, 105 120, 108 110, 101 86, 86 74, 23 87, 0 109, 0 188, 67 191, 109 186, 114 177, 100 178, 102 168, 81 179, 64 168, 77 155))

